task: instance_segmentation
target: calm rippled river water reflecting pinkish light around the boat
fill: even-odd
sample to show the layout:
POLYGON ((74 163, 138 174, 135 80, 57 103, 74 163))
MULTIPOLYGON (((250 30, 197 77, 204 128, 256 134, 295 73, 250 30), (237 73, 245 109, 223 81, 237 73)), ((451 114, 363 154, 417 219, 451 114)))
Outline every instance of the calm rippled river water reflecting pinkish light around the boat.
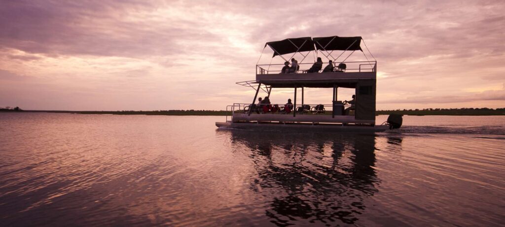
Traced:
POLYGON ((405 116, 375 136, 224 120, 0 113, 0 225, 504 223, 505 116, 405 116))

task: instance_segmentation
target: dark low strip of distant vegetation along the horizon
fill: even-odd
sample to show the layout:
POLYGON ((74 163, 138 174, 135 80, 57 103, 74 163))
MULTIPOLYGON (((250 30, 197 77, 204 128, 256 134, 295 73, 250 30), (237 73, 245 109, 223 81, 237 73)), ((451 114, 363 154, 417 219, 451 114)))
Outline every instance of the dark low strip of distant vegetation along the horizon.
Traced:
MULTIPOLYGON (((330 108, 331 109, 331 106, 330 108)), ((226 116, 231 115, 231 111, 226 110, 118 110, 118 111, 72 111, 72 110, 22 110, 16 108, 0 108, 0 112, 54 112, 54 113, 78 113, 88 115, 169 115, 169 116, 226 116)), ((491 116, 505 115, 505 108, 427 108, 427 109, 396 109, 396 110, 377 110, 377 115, 448 115, 448 116, 491 116)), ((331 115, 331 110, 326 111, 326 115, 331 115)))

